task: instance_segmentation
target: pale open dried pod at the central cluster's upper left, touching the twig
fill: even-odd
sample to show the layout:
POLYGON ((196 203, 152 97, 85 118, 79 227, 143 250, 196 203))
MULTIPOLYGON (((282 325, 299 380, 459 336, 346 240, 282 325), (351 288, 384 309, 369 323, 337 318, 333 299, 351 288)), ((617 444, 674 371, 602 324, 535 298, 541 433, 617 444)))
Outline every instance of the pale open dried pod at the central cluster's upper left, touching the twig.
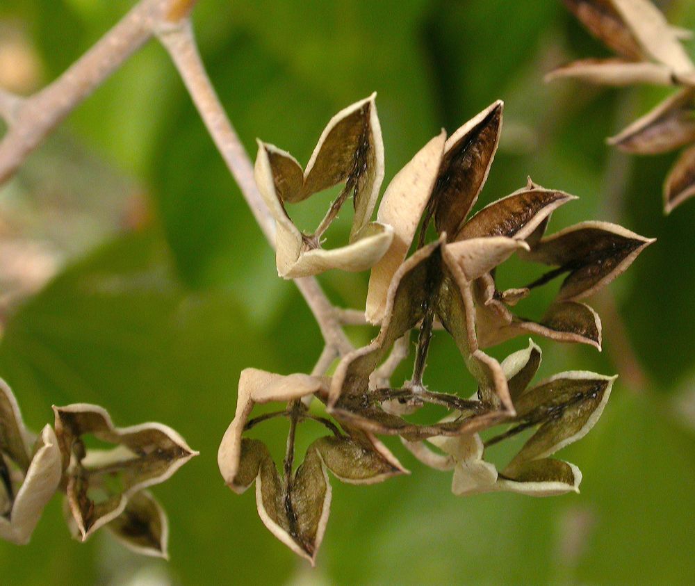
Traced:
POLYGON ((391 227, 370 222, 384 178, 384 145, 375 95, 348 106, 329 121, 305 170, 288 152, 259 140, 255 177, 275 217, 281 277, 306 277, 332 268, 366 270, 391 245, 391 227), (286 204, 302 202, 338 184, 344 188, 319 227, 313 234, 302 234, 290 219, 286 204), (354 218, 350 242, 336 249, 322 249, 323 233, 351 194, 354 218))

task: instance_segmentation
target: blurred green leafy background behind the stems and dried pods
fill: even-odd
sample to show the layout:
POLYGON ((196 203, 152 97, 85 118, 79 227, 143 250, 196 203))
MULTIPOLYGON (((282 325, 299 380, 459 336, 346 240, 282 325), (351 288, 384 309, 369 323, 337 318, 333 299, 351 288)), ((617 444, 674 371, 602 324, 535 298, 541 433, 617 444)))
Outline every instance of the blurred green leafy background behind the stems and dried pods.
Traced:
MULTIPOLYGON (((31 92, 51 81, 132 5, 3 0, 0 84, 31 92)), ((660 6, 695 28, 692 1, 660 6)), ((412 475, 373 487, 334 480, 316 569, 265 530, 253 491, 232 494, 216 464, 238 375, 309 371, 322 343, 151 43, 0 189, 0 375, 35 430, 51 404, 97 402, 120 425, 172 425, 202 455, 154 489, 170 516, 170 563, 108 534, 72 541, 56 497, 29 546, 0 543, 0 583, 695 583, 695 202, 664 217, 673 156, 605 145, 667 92, 544 85, 559 63, 607 55, 557 0, 201 0, 194 21, 250 152, 258 136, 306 162, 329 117, 377 90, 388 181, 441 127, 502 98, 500 152, 479 205, 530 174, 580 197, 550 231, 596 218, 658 238, 594 300, 603 354, 539 340, 541 375, 621 375, 596 428, 562 453, 584 473, 582 494, 456 498, 450 473, 391 442, 412 475)), ((528 281, 528 268, 514 270, 516 284, 528 281)), ((320 280, 336 304, 359 308, 366 278, 320 280)), ((355 343, 372 334, 350 331, 355 343)), ((436 336, 431 355, 432 388, 461 388, 452 343, 436 336)), ((265 433, 277 447, 286 429, 265 433)))

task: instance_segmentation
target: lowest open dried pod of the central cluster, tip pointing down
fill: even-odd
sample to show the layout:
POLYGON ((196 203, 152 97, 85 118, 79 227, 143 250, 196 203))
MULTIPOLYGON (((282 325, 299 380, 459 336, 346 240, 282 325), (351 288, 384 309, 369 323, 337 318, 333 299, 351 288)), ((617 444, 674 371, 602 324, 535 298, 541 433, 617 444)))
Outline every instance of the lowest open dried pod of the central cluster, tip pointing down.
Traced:
MULTIPOLYGON (((304 462, 293 471, 294 435, 288 440, 290 451, 283 473, 279 474, 265 444, 243 438, 249 416, 256 403, 290 401, 288 412, 292 430, 297 421, 309 417, 302 397, 318 393, 325 397, 327 380, 309 375, 275 375, 247 368, 239 380, 237 411, 224 434, 218 452, 218 465, 224 481, 237 493, 256 482, 256 506, 263 524, 292 551, 309 560, 316 553, 325 532, 331 503, 327 471, 343 482, 373 484, 402 474, 401 466, 373 435, 345 427, 332 426, 333 437, 322 437, 306 450, 304 462)), ((261 416, 262 418, 263 416, 261 416)))

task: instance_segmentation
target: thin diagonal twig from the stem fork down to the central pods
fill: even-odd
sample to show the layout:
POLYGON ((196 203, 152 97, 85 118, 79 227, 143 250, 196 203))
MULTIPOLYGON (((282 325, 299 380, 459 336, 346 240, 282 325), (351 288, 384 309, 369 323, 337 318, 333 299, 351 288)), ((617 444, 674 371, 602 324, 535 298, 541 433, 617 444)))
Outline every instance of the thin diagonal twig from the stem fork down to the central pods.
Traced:
MULTIPOLYGON (((271 245, 275 246, 275 220, 265 205, 254 181, 254 170, 250 158, 239 140, 234 127, 220 103, 200 58, 193 29, 188 20, 162 27, 158 38, 170 54, 183 83, 186 84, 193 103, 198 109, 224 163, 249 204, 256 222, 271 245)), ((303 277, 295 284, 304 296, 309 309, 316 318, 326 343, 334 346, 339 355, 352 350, 352 344, 341 329, 333 305, 323 293, 316 279, 303 277)))

